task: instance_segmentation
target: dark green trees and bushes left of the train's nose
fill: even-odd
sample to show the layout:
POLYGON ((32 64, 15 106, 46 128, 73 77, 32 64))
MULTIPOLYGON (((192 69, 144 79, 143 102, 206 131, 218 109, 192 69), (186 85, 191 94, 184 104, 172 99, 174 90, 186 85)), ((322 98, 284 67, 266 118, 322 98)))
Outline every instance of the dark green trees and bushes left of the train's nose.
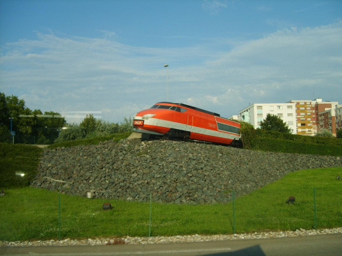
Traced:
POLYGON ((127 131, 133 131, 127 117, 116 124, 87 115, 80 124, 68 124, 60 113, 32 111, 25 100, 0 92, 0 142, 10 143, 14 138, 15 143, 52 144, 127 131))

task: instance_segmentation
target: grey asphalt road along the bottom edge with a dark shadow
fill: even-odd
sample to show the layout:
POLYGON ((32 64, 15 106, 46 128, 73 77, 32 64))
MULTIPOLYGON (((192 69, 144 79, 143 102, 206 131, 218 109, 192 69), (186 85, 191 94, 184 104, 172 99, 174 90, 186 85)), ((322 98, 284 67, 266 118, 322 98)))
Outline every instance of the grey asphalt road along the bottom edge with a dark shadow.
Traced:
POLYGON ((342 255, 342 234, 178 244, 1 247, 0 255, 329 256, 342 255))

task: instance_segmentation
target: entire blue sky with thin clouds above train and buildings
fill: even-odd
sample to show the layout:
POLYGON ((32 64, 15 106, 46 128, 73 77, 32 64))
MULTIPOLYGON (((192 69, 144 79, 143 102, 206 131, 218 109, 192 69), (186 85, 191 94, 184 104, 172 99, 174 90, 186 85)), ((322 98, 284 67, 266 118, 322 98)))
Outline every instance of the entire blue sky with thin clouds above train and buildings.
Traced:
POLYGON ((0 0, 0 92, 69 123, 342 104, 342 1, 0 0))

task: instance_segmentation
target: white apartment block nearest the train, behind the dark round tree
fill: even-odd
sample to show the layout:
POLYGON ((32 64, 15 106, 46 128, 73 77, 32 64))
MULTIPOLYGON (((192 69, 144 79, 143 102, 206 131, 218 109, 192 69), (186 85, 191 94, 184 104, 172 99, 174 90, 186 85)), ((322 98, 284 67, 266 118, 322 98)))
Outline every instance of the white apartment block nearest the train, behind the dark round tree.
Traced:
POLYGON ((297 133, 295 103, 261 103, 252 104, 239 112, 238 120, 260 128, 261 121, 267 114, 277 115, 287 123, 293 134, 297 133))

